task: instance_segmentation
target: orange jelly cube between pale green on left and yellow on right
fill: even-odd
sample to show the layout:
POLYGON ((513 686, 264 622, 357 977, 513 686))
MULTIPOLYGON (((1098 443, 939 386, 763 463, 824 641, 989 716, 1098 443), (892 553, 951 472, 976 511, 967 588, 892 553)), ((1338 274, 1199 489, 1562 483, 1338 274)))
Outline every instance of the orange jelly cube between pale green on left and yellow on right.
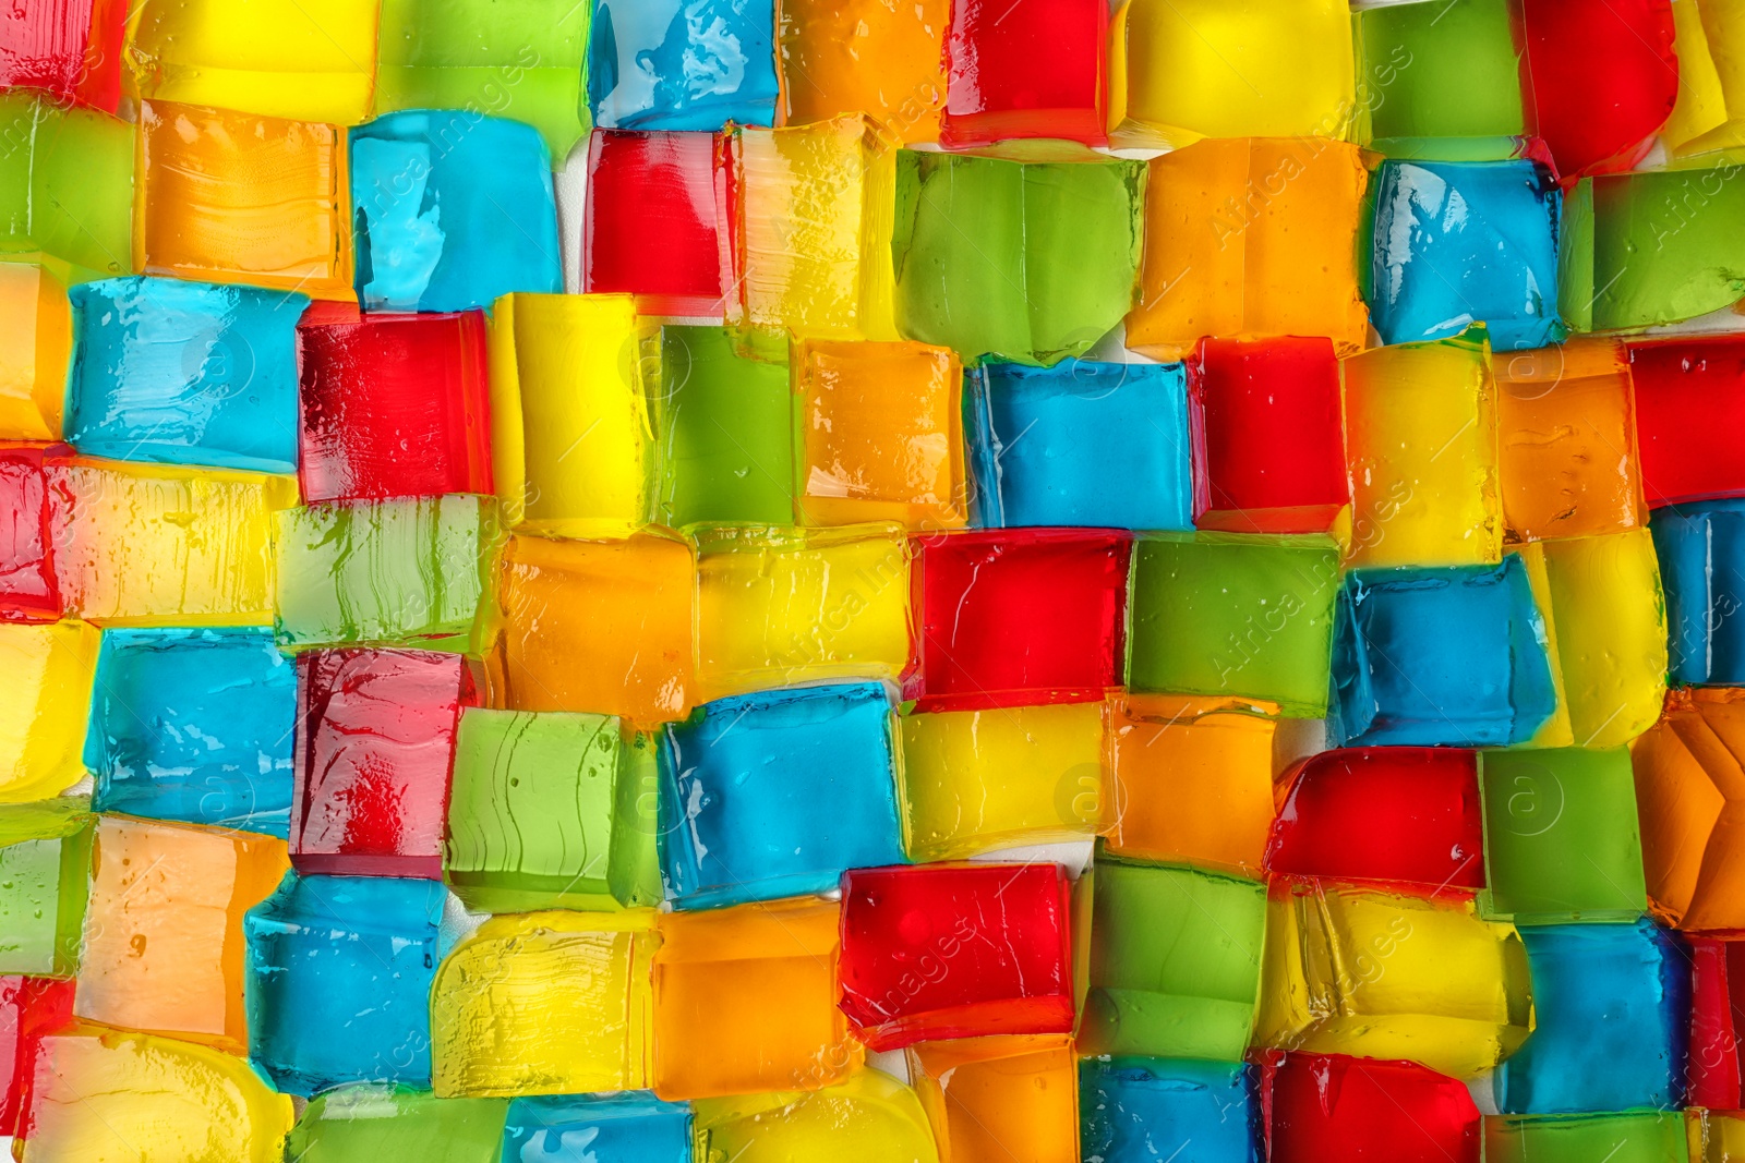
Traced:
POLYGON ((684 541, 511 537, 497 572, 510 706, 682 718, 696 689, 695 588, 684 541))

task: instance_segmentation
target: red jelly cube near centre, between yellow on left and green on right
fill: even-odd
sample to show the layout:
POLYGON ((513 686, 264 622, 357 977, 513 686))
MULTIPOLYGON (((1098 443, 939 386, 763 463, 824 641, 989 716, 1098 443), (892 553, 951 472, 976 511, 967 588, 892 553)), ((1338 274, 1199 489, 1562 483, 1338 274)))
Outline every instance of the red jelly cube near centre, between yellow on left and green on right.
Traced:
POLYGON ((998 528, 916 539, 920 710, 1084 703, 1120 685, 1133 535, 998 528))

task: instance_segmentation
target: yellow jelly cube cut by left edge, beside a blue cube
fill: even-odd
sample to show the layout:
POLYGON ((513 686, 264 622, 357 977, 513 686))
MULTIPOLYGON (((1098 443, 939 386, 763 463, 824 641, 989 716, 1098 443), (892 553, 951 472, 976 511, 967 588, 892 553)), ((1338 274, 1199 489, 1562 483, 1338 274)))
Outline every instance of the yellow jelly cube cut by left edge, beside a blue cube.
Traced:
POLYGON ((0 804, 63 792, 80 755, 101 635, 84 622, 0 622, 0 804))

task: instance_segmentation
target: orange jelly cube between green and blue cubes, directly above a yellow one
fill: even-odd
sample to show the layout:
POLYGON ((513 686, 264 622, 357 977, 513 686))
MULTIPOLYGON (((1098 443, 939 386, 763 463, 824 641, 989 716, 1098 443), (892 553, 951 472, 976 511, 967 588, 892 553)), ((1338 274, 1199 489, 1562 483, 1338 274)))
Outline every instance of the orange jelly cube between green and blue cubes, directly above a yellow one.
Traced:
POLYGON ((956 352, 810 342, 794 349, 792 375, 803 523, 899 521, 928 530, 968 523, 956 352))

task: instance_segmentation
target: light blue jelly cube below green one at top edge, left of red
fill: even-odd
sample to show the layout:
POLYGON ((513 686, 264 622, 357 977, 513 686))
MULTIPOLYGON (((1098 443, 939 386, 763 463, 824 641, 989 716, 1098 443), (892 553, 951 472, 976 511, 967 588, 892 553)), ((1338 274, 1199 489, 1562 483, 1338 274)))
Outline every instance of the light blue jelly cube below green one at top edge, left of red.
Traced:
POLYGON ((468 310, 564 289, 551 155, 532 126, 408 110, 349 139, 365 310, 468 310))

